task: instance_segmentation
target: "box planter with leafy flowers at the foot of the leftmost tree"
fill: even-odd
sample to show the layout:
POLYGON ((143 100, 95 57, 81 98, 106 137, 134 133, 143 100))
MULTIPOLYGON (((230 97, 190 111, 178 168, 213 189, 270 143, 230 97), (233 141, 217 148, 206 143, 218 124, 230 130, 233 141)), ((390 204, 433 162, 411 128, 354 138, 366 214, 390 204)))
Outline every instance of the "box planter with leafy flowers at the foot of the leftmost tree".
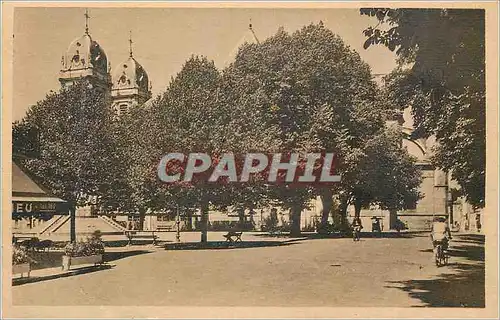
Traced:
POLYGON ((81 264, 102 264, 103 254, 104 243, 100 232, 96 231, 86 241, 71 242, 66 245, 62 257, 62 269, 69 270, 71 266, 81 264))

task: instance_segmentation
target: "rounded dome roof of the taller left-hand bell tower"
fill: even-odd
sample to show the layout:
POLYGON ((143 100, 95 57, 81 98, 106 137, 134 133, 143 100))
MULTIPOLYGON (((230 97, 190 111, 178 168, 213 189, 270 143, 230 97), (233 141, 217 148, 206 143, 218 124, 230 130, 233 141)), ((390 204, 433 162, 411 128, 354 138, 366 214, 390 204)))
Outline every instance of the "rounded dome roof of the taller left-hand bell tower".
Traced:
POLYGON ((108 59, 101 46, 85 33, 71 42, 63 56, 63 70, 93 68, 102 74, 108 71, 108 59))

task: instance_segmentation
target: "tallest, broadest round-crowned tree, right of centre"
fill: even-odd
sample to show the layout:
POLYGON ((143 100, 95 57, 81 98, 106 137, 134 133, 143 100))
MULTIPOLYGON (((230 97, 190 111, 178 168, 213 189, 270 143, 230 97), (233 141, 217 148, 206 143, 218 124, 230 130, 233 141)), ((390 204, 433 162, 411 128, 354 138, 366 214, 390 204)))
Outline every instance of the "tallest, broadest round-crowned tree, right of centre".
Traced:
MULTIPOLYGON (((326 150, 343 158, 383 126, 378 112, 366 107, 376 105, 369 66, 322 23, 291 35, 280 29, 260 44, 242 46, 228 72, 242 96, 260 93, 261 112, 278 125, 284 152, 326 150)), ((341 161, 338 170, 343 166, 341 161)), ((328 218, 331 189, 275 188, 275 200, 291 209, 293 235, 300 233, 302 209, 318 192, 328 218)))

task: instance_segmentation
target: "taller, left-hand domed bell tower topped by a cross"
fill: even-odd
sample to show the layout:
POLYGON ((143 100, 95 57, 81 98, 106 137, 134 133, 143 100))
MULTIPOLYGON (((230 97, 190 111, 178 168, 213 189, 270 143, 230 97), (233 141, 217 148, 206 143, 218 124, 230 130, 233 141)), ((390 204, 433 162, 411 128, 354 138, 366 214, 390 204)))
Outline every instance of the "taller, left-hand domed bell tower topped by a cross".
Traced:
POLYGON ((93 86, 109 92, 111 76, 108 59, 101 46, 89 33, 89 14, 85 11, 85 33, 73 40, 61 59, 59 82, 62 87, 72 85, 80 79, 88 80, 93 86))

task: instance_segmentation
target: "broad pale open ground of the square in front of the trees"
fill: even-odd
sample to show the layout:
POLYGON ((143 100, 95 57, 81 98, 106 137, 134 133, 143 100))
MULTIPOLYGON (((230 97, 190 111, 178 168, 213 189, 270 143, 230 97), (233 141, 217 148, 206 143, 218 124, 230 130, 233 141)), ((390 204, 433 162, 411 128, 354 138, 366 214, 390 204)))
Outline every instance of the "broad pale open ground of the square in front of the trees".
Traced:
MULTIPOLYGON (((198 239, 191 233, 182 240, 198 239)), ((222 239, 209 234, 209 241, 222 239)), ((450 263, 440 268, 428 233, 360 242, 262 234, 243 240, 242 247, 219 249, 109 248, 109 267, 15 285, 14 304, 484 306, 484 236, 478 234, 455 235, 450 263)))

